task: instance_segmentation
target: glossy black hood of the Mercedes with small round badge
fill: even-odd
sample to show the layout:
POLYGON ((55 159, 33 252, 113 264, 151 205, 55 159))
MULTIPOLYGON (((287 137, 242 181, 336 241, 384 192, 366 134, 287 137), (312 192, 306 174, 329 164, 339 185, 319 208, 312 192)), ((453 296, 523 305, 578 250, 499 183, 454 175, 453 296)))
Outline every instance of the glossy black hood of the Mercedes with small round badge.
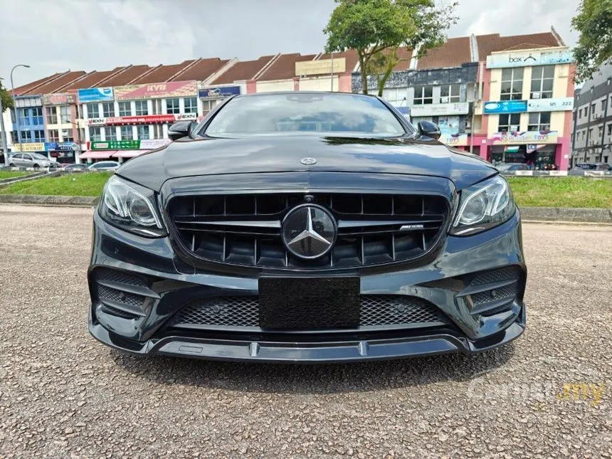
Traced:
POLYGON ((428 137, 265 136, 189 139, 142 154, 117 174, 159 191, 164 181, 183 176, 258 172, 369 172, 450 179, 458 189, 497 174, 491 164, 428 137), (305 165, 304 158, 316 159, 305 165))

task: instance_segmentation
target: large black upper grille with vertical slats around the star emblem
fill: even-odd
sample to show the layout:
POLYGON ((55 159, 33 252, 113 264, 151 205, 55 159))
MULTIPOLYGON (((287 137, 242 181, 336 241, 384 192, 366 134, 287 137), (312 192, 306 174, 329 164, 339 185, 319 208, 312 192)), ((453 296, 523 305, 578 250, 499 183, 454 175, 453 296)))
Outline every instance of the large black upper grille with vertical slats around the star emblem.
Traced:
POLYGON ((355 268, 413 260, 431 249, 448 217, 443 196, 410 194, 238 194, 179 196, 169 220, 191 257, 262 268, 355 268), (338 223, 333 250, 303 260, 285 249, 283 218, 309 202, 338 223))

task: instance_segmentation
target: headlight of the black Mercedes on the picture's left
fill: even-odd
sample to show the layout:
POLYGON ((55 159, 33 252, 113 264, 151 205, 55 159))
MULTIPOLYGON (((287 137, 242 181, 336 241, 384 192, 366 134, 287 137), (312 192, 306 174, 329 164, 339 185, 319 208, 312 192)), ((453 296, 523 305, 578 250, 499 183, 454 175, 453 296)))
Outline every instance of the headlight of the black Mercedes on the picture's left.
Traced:
POLYGON ((155 211, 155 194, 144 186, 116 175, 110 177, 102 192, 99 209, 100 216, 108 223, 126 231, 153 238, 166 236, 155 211))

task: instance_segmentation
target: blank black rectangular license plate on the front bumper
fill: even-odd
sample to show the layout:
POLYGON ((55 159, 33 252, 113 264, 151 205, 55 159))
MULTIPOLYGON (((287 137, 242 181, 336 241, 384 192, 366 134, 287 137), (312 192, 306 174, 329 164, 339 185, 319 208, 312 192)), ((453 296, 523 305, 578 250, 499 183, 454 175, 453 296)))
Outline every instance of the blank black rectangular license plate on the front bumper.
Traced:
POLYGON ((259 279, 262 328, 357 328, 359 305, 357 277, 259 279))

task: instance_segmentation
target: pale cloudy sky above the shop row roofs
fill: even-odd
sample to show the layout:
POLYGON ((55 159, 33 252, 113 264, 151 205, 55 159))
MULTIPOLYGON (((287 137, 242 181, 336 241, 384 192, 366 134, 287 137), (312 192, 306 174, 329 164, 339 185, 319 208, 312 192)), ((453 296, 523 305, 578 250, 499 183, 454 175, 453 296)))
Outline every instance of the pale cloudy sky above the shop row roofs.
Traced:
MULTIPOLYGON (((450 0, 438 0, 448 4, 450 0)), ((579 0, 459 0, 448 36, 517 35, 554 26, 568 46, 579 0)), ((66 70, 190 58, 317 53, 333 0, 1 0, 0 78, 10 87, 66 70)))

